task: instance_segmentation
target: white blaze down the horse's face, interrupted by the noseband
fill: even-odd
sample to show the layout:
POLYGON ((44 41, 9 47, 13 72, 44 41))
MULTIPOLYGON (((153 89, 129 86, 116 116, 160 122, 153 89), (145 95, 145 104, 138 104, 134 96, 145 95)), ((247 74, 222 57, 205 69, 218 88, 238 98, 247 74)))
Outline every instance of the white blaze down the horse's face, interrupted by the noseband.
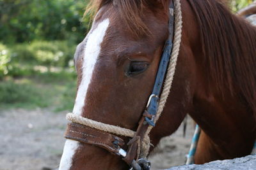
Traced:
MULTIPOLYGON (((76 103, 73 113, 82 115, 87 89, 92 79, 93 69, 100 54, 100 44, 109 26, 109 19, 103 20, 97 28, 88 34, 88 40, 84 47, 83 75, 77 90, 76 103)), ((79 142, 67 139, 60 161, 60 170, 70 169, 72 157, 76 153, 79 142)))

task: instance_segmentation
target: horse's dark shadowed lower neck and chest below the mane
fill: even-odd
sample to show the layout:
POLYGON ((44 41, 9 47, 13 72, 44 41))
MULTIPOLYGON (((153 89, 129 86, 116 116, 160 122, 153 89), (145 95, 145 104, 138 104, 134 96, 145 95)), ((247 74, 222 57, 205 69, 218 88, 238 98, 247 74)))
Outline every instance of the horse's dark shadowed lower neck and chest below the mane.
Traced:
POLYGON ((203 131, 196 163, 249 155, 256 136, 253 111, 239 96, 198 91, 189 113, 203 131))

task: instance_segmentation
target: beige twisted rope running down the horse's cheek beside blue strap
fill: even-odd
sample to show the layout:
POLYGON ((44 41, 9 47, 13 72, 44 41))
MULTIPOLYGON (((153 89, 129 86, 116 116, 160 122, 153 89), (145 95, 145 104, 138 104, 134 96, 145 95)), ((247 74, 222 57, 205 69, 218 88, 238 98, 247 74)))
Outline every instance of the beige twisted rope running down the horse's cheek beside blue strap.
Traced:
MULTIPOLYGON (((166 104, 167 98, 170 94, 170 90, 172 87, 172 81, 175 73, 175 67, 177 65, 177 59, 179 56, 179 50, 180 50, 180 43, 181 43, 181 36, 182 36, 182 11, 181 11, 181 4, 180 0, 174 1, 174 15, 175 15, 175 28, 174 28, 174 39, 173 39, 173 50, 171 55, 171 60, 168 66, 168 71, 166 73, 166 78, 164 81, 164 87, 163 91, 160 97, 159 105, 157 108, 157 114, 156 118, 154 120, 155 124, 159 117, 161 116, 161 113, 164 109, 164 106, 166 104)), ((152 126, 148 127, 147 132, 145 134, 146 138, 149 140, 150 131, 152 130, 152 126)), ((147 143, 150 143, 150 141, 147 141, 147 143)), ((150 145, 145 146, 145 148, 142 149, 141 157, 147 157, 149 152, 150 145)))

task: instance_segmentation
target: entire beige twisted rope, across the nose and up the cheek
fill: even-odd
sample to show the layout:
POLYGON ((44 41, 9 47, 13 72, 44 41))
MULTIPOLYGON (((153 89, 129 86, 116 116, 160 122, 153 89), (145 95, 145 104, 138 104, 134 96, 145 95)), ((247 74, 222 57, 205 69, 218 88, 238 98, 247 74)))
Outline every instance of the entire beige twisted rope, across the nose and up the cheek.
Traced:
MULTIPOLYGON (((168 71, 166 73, 166 79, 164 81, 163 92, 161 94, 159 105, 157 108, 157 115, 154 120, 155 123, 157 122, 158 118, 161 116, 167 97, 170 93, 173 76, 175 73, 175 67, 177 64, 178 56, 179 56, 180 42, 181 42, 181 36, 182 36, 182 12, 181 12, 180 0, 174 0, 174 15, 175 15, 175 27, 174 27, 174 38, 173 38, 173 50, 172 50, 171 60, 168 66, 168 71)), ((125 129, 115 125, 104 124, 102 122, 97 122, 95 120, 90 120, 88 118, 81 117, 80 115, 77 115, 74 113, 68 113, 67 120, 69 120, 70 122, 74 122, 76 124, 86 125, 86 126, 98 129, 100 131, 109 132, 109 133, 120 135, 120 136, 133 138, 135 134, 135 132, 131 131, 130 129, 125 129)), ((143 139, 143 142, 141 143, 140 157, 144 158, 144 157, 147 157, 148 155, 149 148, 150 148, 149 133, 151 130, 152 130, 152 126, 149 126, 145 134, 145 137, 143 139)))

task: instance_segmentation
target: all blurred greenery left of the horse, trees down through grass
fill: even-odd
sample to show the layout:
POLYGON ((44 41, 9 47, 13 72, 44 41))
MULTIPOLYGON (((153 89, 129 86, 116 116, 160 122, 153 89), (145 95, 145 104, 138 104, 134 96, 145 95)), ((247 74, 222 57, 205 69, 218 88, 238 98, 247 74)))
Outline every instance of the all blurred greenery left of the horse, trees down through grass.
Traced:
POLYGON ((71 110, 86 0, 0 0, 0 108, 71 110))

